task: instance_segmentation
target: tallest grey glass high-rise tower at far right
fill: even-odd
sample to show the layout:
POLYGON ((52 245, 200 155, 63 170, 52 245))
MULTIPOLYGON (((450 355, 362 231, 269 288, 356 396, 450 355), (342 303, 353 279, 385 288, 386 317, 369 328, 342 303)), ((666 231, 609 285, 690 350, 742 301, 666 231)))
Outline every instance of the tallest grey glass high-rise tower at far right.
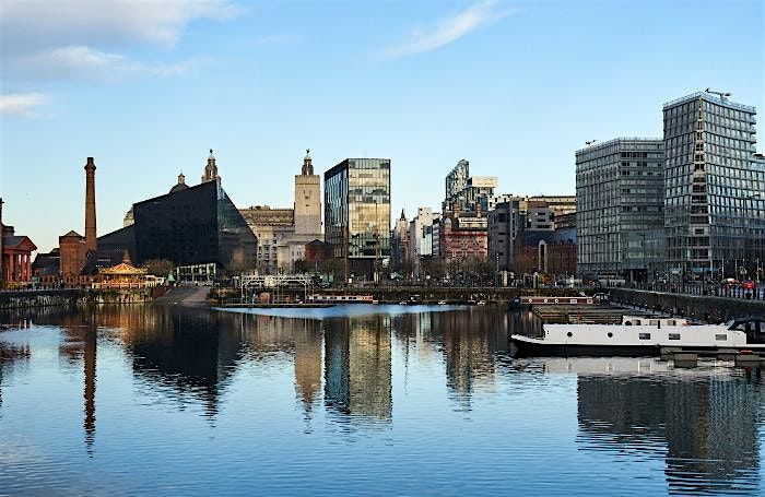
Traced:
POLYGON ((686 281, 751 277, 765 259, 756 110, 718 95, 699 92, 663 106, 667 269, 686 281))

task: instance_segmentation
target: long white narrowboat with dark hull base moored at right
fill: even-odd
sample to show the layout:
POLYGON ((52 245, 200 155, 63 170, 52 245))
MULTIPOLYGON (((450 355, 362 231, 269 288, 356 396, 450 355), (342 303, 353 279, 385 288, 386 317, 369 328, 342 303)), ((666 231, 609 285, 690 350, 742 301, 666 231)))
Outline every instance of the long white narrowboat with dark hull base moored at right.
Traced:
POLYGON ((621 324, 543 324, 542 336, 511 334, 517 356, 645 356, 661 348, 765 352, 765 317, 726 324, 680 318, 624 316, 621 324))

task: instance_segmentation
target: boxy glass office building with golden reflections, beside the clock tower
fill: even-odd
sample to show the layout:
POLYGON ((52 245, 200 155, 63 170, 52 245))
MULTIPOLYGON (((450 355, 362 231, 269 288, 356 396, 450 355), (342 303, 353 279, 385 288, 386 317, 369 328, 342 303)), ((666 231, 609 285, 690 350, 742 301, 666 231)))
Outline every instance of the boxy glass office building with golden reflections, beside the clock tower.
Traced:
POLYGON ((325 240, 373 279, 390 257, 390 159, 346 158, 325 173, 325 240), (378 270, 380 265, 377 265, 378 270))

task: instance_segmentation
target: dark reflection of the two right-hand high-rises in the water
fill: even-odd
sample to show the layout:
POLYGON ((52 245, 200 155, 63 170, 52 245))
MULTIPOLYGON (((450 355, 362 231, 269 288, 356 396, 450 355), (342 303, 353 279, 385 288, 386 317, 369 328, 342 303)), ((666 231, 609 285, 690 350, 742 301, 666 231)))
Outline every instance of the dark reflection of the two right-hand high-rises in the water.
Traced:
POLYGON ((758 381, 708 371, 580 376, 577 390, 582 449, 663 457, 673 494, 758 488, 758 381))

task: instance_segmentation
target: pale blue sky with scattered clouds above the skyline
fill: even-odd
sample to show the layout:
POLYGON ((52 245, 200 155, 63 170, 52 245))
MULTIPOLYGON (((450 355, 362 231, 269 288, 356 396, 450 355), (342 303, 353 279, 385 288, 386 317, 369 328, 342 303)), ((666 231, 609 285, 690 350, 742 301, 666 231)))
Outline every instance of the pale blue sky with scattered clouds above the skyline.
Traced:
POLYGON ((209 149, 239 208, 292 206, 306 149, 318 174, 390 158, 395 217, 438 209, 461 158, 498 193, 574 194, 576 150, 660 138, 666 102, 765 108, 763 5, 0 0, 3 222, 42 251, 82 234, 93 156, 111 232, 209 149))

